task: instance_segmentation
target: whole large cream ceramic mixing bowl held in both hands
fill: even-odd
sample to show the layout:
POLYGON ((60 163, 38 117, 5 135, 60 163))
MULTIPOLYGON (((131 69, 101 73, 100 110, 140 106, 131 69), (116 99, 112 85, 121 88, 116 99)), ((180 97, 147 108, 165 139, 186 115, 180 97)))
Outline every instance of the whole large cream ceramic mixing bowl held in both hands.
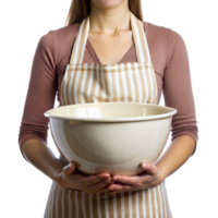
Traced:
POLYGON ((44 113, 61 156, 84 174, 135 175, 162 154, 177 109, 138 102, 62 106, 44 113))

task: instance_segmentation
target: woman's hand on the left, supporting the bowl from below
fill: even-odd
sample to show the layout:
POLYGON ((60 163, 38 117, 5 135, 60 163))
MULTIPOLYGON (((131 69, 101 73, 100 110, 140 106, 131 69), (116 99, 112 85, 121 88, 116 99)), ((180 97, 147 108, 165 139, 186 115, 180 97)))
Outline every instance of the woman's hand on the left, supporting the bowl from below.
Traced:
POLYGON ((108 192, 109 185, 113 183, 109 173, 86 177, 75 170, 73 162, 63 167, 58 173, 57 181, 61 187, 80 190, 89 194, 108 192))

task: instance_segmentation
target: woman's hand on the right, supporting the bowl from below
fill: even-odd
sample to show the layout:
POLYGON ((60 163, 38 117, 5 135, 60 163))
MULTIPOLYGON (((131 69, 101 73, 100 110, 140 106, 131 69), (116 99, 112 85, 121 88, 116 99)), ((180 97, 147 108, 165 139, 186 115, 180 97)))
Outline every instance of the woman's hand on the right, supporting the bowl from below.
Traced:
POLYGON ((116 180, 116 182, 121 182, 122 184, 110 184, 109 194, 122 193, 122 192, 132 192, 136 190, 144 190, 155 187, 160 184, 165 178, 161 172, 155 165, 145 162, 147 166, 143 167, 143 162, 141 162, 141 167, 145 170, 140 175, 129 177, 129 175, 113 175, 111 179, 116 180), (112 190, 110 187, 113 187, 112 190))

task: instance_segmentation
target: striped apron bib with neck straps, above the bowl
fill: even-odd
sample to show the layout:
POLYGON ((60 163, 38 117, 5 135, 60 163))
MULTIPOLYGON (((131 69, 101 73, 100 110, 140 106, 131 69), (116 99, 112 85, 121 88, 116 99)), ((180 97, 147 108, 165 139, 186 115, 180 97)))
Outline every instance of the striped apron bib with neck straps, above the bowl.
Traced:
POLYGON ((157 82, 143 24, 130 13, 138 62, 83 63, 89 32, 87 16, 80 26, 61 83, 60 106, 109 101, 157 105, 157 82))

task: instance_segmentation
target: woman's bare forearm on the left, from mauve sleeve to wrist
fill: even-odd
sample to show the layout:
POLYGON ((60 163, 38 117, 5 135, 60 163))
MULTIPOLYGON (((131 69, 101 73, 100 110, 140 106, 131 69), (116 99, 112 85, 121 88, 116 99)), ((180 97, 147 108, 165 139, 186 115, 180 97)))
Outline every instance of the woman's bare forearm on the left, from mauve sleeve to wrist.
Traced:
POLYGON ((37 138, 27 140, 22 145, 22 153, 32 167, 58 183, 57 174, 64 166, 45 142, 37 138))

